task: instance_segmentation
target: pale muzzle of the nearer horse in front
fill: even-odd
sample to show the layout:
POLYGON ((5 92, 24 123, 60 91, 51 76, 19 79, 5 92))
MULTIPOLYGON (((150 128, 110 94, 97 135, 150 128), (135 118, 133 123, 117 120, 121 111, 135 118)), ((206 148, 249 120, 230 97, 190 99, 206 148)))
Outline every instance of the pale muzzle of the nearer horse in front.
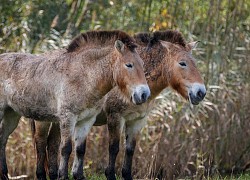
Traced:
POLYGON ((145 103, 150 97, 150 89, 147 85, 136 86, 132 93, 132 102, 136 105, 145 103))

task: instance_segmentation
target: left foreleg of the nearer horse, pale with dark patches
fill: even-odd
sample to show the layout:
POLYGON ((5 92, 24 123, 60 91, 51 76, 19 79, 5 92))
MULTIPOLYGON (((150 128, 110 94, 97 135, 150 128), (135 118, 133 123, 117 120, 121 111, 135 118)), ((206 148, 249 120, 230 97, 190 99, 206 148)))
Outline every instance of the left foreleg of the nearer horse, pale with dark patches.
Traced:
POLYGON ((76 116, 71 113, 65 113, 60 118, 60 158, 59 158, 59 179, 69 179, 68 177, 68 162, 72 152, 72 136, 76 123, 76 116))

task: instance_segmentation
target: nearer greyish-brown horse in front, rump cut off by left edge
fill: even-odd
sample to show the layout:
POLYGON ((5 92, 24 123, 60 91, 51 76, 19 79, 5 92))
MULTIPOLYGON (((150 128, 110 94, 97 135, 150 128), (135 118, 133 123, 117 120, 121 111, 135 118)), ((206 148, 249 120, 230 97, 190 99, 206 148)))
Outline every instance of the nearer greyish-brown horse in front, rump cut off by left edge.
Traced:
POLYGON ((135 47, 134 39, 122 31, 92 31, 76 37, 67 49, 38 56, 1 54, 0 178, 8 179, 6 143, 24 116, 59 122, 59 178, 68 179, 74 140, 72 172, 75 179, 83 179, 82 147, 101 111, 98 100, 115 85, 128 102, 141 104, 150 95, 135 47))

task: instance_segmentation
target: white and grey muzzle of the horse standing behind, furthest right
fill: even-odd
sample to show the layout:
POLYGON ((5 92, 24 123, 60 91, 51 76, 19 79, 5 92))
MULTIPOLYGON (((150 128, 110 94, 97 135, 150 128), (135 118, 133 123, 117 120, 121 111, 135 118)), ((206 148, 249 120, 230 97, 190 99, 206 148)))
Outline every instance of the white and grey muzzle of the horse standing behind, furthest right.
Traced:
POLYGON ((188 88, 189 101, 193 105, 198 105, 206 96, 206 88, 204 84, 193 83, 188 88))

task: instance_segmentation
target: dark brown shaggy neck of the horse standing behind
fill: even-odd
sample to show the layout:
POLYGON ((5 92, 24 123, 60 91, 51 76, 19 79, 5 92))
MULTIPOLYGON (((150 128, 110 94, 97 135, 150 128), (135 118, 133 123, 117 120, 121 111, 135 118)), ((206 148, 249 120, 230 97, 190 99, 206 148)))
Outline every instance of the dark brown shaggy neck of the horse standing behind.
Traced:
POLYGON ((144 61, 145 76, 151 90, 151 99, 154 99, 169 86, 165 67, 165 52, 159 45, 150 50, 146 50, 146 47, 139 47, 138 51, 144 61))

